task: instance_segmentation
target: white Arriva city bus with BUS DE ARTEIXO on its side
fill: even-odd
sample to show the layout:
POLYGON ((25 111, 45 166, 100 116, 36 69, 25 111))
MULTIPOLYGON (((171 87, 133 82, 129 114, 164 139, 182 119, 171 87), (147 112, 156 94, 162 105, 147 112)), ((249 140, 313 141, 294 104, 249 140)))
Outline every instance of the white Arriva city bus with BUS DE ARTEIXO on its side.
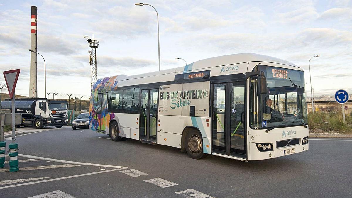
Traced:
POLYGON ((233 54, 184 67, 102 78, 89 127, 126 138, 249 161, 308 150, 303 69, 278 58, 233 54))

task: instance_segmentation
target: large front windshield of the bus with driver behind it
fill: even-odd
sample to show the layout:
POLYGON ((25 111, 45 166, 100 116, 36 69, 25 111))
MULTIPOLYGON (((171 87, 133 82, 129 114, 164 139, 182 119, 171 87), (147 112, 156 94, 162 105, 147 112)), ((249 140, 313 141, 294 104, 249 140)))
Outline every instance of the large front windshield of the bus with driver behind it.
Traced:
POLYGON ((258 82, 251 79, 251 128, 308 124, 303 71, 263 65, 253 70, 264 72, 268 91, 258 94, 258 82))

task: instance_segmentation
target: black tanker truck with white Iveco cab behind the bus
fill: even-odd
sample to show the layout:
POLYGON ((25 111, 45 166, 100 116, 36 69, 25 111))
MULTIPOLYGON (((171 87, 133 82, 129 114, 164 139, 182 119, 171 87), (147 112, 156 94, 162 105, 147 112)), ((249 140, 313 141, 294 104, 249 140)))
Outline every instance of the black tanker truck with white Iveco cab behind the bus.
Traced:
MULTIPOLYGON (((11 107, 11 99, 1 101, 1 109, 11 110, 11 107)), ((61 128, 68 123, 66 100, 15 98, 15 113, 22 114, 22 124, 20 125, 33 126, 36 129, 42 129, 44 126, 61 128)))

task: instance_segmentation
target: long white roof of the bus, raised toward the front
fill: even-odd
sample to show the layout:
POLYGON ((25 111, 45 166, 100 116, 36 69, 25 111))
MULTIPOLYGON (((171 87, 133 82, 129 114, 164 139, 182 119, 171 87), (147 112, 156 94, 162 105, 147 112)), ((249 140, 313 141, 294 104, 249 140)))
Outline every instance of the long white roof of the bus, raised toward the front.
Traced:
POLYGON ((110 77, 101 78, 97 80, 96 84, 124 81, 124 80, 131 80, 131 79, 140 79, 140 78, 146 78, 150 76, 167 75, 172 73, 174 74, 182 73, 182 72, 189 73, 189 72, 192 72, 193 70, 199 70, 199 69, 206 70, 207 68, 211 68, 211 67, 225 66, 225 65, 246 63, 246 62, 270 62, 270 63, 285 64, 285 65, 297 67, 295 64, 283 59, 279 59, 271 56, 265 56, 261 54, 241 53, 241 54, 230 54, 230 55, 206 58, 206 59, 202 59, 202 60, 190 63, 183 67, 165 69, 165 70, 156 71, 156 72, 149 72, 149 73, 137 74, 137 75, 131 75, 131 76, 127 76, 124 74, 110 76, 110 77))

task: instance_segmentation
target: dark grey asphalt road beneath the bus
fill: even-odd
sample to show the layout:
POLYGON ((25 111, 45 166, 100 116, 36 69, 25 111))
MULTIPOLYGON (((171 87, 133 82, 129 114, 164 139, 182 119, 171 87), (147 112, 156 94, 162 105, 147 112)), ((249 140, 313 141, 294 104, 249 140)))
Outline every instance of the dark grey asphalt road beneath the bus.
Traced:
POLYGON ((54 168, 0 172, 0 197, 31 197, 52 191, 74 197, 201 197, 200 193, 212 197, 352 197, 352 141, 347 138, 311 138, 306 152, 250 162, 212 155, 194 160, 177 148, 105 138, 109 136, 71 128, 18 136, 20 154, 120 168, 72 166, 43 159, 20 162, 20 168, 54 168), (130 169, 141 176, 120 172, 130 169), (39 179, 11 183, 29 178, 39 179), (162 186, 155 178, 166 184, 162 186), (4 180, 10 181, 1 183, 4 180), (13 186, 16 184, 20 186, 13 186))

